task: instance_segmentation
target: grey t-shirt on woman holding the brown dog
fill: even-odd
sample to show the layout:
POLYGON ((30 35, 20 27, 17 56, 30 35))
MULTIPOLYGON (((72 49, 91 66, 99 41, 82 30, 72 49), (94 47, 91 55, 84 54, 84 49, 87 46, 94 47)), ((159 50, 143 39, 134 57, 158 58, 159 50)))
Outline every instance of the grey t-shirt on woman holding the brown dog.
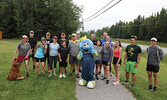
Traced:
POLYGON ((31 46, 29 43, 27 43, 26 45, 24 45, 23 42, 20 42, 18 45, 17 45, 17 48, 19 49, 19 56, 20 55, 23 55, 23 56, 26 56, 28 51, 31 49, 31 46))

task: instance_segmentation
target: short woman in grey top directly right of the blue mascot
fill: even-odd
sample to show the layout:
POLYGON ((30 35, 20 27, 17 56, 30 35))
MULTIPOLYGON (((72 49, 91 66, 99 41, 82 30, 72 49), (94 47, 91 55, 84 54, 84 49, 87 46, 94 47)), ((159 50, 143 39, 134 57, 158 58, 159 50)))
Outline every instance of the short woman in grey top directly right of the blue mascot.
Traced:
POLYGON ((100 63, 101 63, 101 50, 102 50, 102 47, 100 46, 101 45, 101 41, 100 40, 97 40, 96 42, 96 45, 94 46, 95 50, 97 51, 98 53, 98 56, 96 56, 94 59, 95 59, 95 64, 96 64, 96 70, 95 70, 95 78, 97 80, 99 80, 98 78, 98 68, 100 66, 100 63))

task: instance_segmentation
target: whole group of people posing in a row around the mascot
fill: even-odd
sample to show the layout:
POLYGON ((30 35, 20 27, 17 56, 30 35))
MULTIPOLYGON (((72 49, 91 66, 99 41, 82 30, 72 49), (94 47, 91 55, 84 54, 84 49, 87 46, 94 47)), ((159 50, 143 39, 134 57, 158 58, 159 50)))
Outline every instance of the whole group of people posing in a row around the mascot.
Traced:
MULTIPOLYGON (((65 73, 66 67, 69 61, 70 73, 69 76, 72 76, 72 73, 75 72, 76 66, 76 76, 80 78, 79 72, 81 71, 81 61, 77 59, 77 55, 79 53, 79 43, 80 43, 80 33, 73 33, 72 39, 65 39, 66 34, 61 34, 61 39, 58 39, 57 36, 53 36, 50 38, 50 33, 46 33, 46 37, 41 38, 41 43, 37 44, 37 40, 34 38, 34 31, 30 31, 30 37, 28 38, 26 35, 23 35, 21 42, 18 44, 14 58, 16 58, 18 53, 18 61, 22 63, 25 62, 26 66, 26 75, 29 77, 29 60, 32 57, 33 61, 33 70, 37 72, 37 77, 41 76, 39 61, 42 66, 42 76, 45 76, 45 65, 47 61, 48 72, 50 72, 48 77, 52 75, 57 76, 56 74, 56 66, 57 61, 59 61, 59 78, 66 78, 65 73), (54 62, 54 68, 52 68, 54 62), (36 67, 35 67, 36 65, 36 67), (52 71, 53 70, 53 71, 52 71)), ((106 32, 103 33, 103 39, 96 40, 96 35, 91 34, 90 39, 94 48, 98 53, 98 56, 94 57, 95 63, 95 78, 99 80, 98 75, 101 74, 101 70, 103 67, 104 76, 102 80, 106 80, 106 84, 109 84, 110 76, 111 76, 111 64, 113 64, 114 69, 116 71, 116 78, 113 82, 113 85, 120 84, 120 67, 122 64, 122 52, 123 48, 121 46, 121 41, 116 40, 115 46, 111 42, 110 36, 106 32)), ((129 76, 132 74, 132 84, 131 88, 134 88, 136 81, 136 72, 137 67, 140 62, 142 50, 140 46, 136 44, 136 37, 130 38, 131 44, 128 45, 125 49, 125 55, 123 64, 125 65, 126 72, 126 80, 122 84, 129 84, 129 76)), ((156 45, 157 39, 151 38, 151 46, 147 48, 148 59, 147 59, 147 73, 149 79, 149 87, 148 90, 153 89, 153 92, 157 91, 158 85, 158 72, 159 72, 159 64, 163 58, 163 51, 160 47, 156 45), (152 87, 152 73, 155 79, 154 88, 152 87)))

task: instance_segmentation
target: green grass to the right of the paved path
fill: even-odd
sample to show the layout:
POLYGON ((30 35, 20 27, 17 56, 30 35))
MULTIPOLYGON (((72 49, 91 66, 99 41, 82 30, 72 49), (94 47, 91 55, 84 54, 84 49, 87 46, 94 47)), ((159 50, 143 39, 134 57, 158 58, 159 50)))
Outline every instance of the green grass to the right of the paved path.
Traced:
MULTIPOLYGON (((123 52, 124 55, 125 52, 123 52)), ((123 57, 122 57, 123 58, 123 57)), ((123 60, 123 59, 122 59, 123 60)), ((160 71, 159 71, 159 84, 158 84, 158 92, 152 93, 149 90, 146 90, 148 87, 148 77, 146 72, 146 61, 147 61, 147 55, 146 53, 142 53, 142 57, 140 60, 140 63, 137 68, 137 74, 136 74, 136 83, 135 88, 131 89, 129 88, 129 85, 125 86, 128 88, 134 95, 137 100, 166 100, 167 98, 167 79, 166 79, 166 64, 167 64, 167 56, 164 57, 160 64, 160 71)), ((112 66, 113 67, 113 66, 112 66)), ((120 68, 120 74, 121 74, 121 81, 125 80, 125 66, 123 65, 120 68)), ((115 70, 112 70, 112 72, 115 74, 115 70)), ((131 76, 130 75, 130 83, 131 83, 131 76)), ((153 83, 154 85, 154 83, 153 83)))

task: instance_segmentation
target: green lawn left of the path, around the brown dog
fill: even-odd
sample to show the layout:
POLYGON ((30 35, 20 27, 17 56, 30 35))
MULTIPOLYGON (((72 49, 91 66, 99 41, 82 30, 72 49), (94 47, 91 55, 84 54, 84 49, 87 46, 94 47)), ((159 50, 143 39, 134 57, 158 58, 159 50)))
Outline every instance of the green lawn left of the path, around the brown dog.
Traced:
MULTIPOLYGON (((20 40, 5 40, 18 43, 20 40)), ((30 62, 30 77, 20 81, 8 81, 6 76, 12 66, 13 54, 16 45, 0 43, 0 99, 1 100, 76 100, 75 75, 66 79, 57 77, 37 77, 30 62)), ((58 67, 58 66, 57 66, 58 67)), ((24 63, 21 72, 26 76, 24 63)), ((40 67, 41 68, 41 67, 40 67)), ((67 67, 69 72, 69 66, 67 67)), ((58 73, 58 72, 57 72, 58 73)))

